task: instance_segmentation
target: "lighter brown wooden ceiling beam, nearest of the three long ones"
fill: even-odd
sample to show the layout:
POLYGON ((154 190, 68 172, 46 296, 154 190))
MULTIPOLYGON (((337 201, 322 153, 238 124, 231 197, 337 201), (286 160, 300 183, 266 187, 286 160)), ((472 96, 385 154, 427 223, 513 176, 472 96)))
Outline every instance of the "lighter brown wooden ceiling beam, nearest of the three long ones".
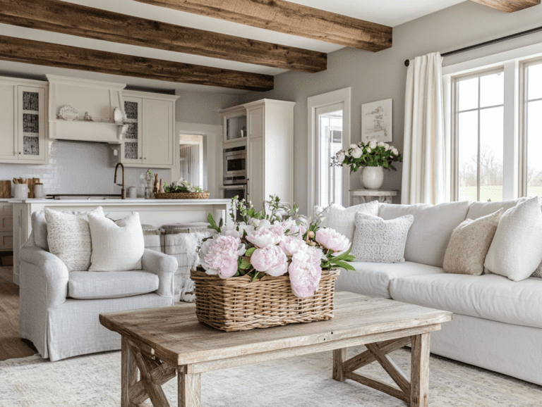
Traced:
POLYGON ((284 0, 137 0, 367 51, 392 46, 392 27, 284 0))

